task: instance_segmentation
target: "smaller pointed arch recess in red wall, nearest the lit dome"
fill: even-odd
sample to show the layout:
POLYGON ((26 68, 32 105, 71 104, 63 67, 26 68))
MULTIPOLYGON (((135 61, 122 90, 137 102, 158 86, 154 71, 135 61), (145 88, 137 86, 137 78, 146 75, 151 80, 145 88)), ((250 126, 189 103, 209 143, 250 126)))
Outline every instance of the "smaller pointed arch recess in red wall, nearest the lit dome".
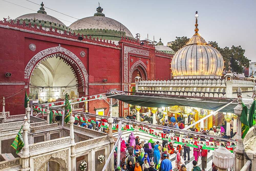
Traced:
POLYGON ((130 72, 129 72, 130 83, 134 82, 134 78, 137 76, 137 74, 140 75, 142 80, 148 79, 147 66, 141 60, 138 60, 137 62, 135 62, 130 69, 130 72))

